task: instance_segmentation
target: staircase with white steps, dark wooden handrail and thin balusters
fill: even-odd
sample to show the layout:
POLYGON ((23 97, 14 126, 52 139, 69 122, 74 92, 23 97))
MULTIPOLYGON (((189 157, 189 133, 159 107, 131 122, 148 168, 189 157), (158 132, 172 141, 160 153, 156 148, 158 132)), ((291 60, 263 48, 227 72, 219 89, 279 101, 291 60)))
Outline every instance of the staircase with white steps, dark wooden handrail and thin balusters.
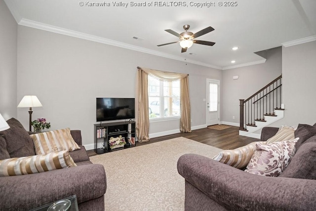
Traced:
POLYGON ((282 75, 248 97, 239 100, 239 135, 256 137, 254 132, 284 117, 282 75))

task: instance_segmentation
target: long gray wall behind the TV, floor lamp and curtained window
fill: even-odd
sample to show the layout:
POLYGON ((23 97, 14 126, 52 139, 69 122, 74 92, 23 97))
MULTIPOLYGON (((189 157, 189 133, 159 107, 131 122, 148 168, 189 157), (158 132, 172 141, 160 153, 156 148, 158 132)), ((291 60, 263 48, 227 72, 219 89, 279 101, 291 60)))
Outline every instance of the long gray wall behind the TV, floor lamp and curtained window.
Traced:
MULTIPOLYGON (((188 73, 193 122, 205 125, 206 79, 221 80, 221 71, 112 45, 18 26, 17 98, 37 95, 51 129, 81 129, 83 144, 93 144, 96 97, 135 97, 137 66, 188 73)), ((26 108, 17 109, 28 128, 26 108)), ((179 120, 150 124, 150 133, 179 131, 179 120)))

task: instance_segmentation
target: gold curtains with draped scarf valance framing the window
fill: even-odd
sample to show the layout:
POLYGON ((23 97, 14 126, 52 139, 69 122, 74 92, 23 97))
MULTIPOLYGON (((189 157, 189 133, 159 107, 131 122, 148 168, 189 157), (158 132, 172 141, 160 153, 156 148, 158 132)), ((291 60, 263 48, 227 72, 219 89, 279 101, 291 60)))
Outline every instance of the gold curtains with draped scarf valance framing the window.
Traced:
POLYGON ((137 67, 138 76, 136 88, 136 134, 139 142, 149 141, 149 105, 148 105, 148 75, 160 81, 172 82, 180 80, 180 131, 191 132, 191 108, 189 98, 189 75, 170 73, 149 68, 137 67))

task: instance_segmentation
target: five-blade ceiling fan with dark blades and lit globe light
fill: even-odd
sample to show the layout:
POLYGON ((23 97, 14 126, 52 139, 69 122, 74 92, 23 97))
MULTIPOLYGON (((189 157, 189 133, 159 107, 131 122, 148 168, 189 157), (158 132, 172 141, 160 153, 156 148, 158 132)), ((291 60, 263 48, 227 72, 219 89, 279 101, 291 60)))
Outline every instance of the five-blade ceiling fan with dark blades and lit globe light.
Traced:
POLYGON ((192 32, 188 32, 189 28, 190 28, 190 25, 184 25, 183 29, 186 30, 186 31, 182 32, 181 34, 178 34, 178 33, 176 33, 175 31, 173 31, 171 29, 164 30, 164 31, 169 32, 170 34, 178 37, 180 40, 176 41, 176 42, 169 42, 169 43, 159 44, 157 46, 163 46, 163 45, 167 45, 167 44, 173 44, 173 43, 180 42, 180 45, 182 47, 181 53, 183 53, 183 52, 186 52, 187 49, 193 45, 193 43, 210 45, 210 46, 213 46, 215 44, 215 42, 197 41, 197 40, 195 40, 197 37, 205 35, 205 34, 211 32, 211 31, 213 31, 214 29, 212 27, 209 26, 209 27, 207 27, 205 29, 202 29, 201 31, 198 31, 195 34, 193 34, 192 32))

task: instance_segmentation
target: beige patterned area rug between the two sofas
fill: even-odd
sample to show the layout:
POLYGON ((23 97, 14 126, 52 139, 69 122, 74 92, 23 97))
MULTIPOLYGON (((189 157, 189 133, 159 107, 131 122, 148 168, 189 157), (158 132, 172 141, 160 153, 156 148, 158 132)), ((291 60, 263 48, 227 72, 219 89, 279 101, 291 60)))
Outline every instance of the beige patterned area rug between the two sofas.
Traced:
POLYGON ((159 141, 90 157, 107 175, 107 211, 184 211, 184 178, 178 173, 181 155, 209 158, 222 150, 184 137, 159 141))

